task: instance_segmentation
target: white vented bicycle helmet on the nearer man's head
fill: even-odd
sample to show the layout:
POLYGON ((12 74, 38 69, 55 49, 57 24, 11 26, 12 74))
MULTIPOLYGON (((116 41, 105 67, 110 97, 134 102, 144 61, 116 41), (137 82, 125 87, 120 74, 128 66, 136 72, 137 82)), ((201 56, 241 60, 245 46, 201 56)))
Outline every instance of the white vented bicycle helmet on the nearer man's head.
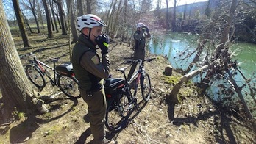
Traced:
POLYGON ((93 28, 95 26, 107 26, 101 18, 96 15, 88 14, 77 17, 77 29, 81 31, 83 28, 93 28))

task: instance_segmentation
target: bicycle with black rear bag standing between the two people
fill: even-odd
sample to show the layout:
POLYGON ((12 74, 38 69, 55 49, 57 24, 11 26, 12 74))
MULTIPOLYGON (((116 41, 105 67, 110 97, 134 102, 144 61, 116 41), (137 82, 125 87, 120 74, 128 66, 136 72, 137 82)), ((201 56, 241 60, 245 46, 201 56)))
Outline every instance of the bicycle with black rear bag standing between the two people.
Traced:
MULTIPOLYGON (((120 71, 124 75, 123 78, 108 78, 105 79, 104 90, 107 97, 107 112, 105 126, 111 132, 118 132, 126 126, 132 109, 138 108, 136 94, 138 86, 141 86, 141 93, 143 101, 149 101, 151 94, 151 82, 149 74, 146 73, 143 68, 143 62, 151 62, 155 58, 146 60, 133 60, 129 62, 139 63, 138 71, 136 71, 132 78, 128 81, 125 75, 125 70, 128 67, 119 68, 116 71, 120 71), (135 79, 135 91, 132 94, 130 84, 135 79)), ((128 62, 128 61, 127 61, 128 62)))

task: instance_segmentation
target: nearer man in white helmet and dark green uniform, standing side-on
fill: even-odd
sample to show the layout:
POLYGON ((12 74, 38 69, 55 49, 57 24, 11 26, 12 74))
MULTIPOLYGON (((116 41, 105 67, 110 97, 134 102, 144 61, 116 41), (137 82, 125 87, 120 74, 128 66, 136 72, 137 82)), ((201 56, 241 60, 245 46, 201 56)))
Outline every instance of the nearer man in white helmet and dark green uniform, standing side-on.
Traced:
POLYGON ((79 81, 80 94, 88 104, 93 143, 107 143, 104 130, 107 104, 103 82, 110 73, 110 60, 109 39, 102 34, 105 26, 107 25, 104 21, 93 14, 77 17, 77 29, 81 35, 73 48, 71 58, 74 74, 79 81), (101 49, 102 57, 96 54, 96 45, 101 49))

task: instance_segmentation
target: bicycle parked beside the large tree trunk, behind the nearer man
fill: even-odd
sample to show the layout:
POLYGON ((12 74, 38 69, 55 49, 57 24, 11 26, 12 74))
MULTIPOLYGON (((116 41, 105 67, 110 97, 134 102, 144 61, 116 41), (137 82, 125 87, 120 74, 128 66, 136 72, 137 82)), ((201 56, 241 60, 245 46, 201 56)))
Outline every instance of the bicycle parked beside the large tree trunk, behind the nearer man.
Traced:
POLYGON ((66 96, 70 98, 81 97, 78 80, 74 77, 71 62, 56 66, 56 62, 59 60, 50 58, 49 60, 53 62, 54 65, 54 67, 51 68, 49 65, 38 60, 35 54, 29 53, 28 55, 32 56, 33 60, 29 60, 29 64, 25 67, 25 73, 32 84, 35 84, 35 86, 38 87, 38 90, 43 90, 43 88, 46 87, 46 79, 44 76, 47 76, 51 85, 59 87, 66 96), (54 72, 53 78, 46 68, 54 72))

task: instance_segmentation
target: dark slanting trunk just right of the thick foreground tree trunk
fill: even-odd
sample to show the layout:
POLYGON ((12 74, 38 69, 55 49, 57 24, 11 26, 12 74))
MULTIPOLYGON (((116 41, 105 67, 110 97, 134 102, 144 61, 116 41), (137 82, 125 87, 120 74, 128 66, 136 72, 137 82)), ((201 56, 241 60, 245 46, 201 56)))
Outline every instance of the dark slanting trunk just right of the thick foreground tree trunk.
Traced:
POLYGON ((24 18, 21 14, 20 6, 18 5, 18 0, 12 0, 13 1, 13 9, 15 11, 16 19, 18 22, 18 28, 21 32, 21 37, 23 40, 24 47, 31 47, 29 43, 29 37, 26 34, 25 24, 24 24, 24 18))

